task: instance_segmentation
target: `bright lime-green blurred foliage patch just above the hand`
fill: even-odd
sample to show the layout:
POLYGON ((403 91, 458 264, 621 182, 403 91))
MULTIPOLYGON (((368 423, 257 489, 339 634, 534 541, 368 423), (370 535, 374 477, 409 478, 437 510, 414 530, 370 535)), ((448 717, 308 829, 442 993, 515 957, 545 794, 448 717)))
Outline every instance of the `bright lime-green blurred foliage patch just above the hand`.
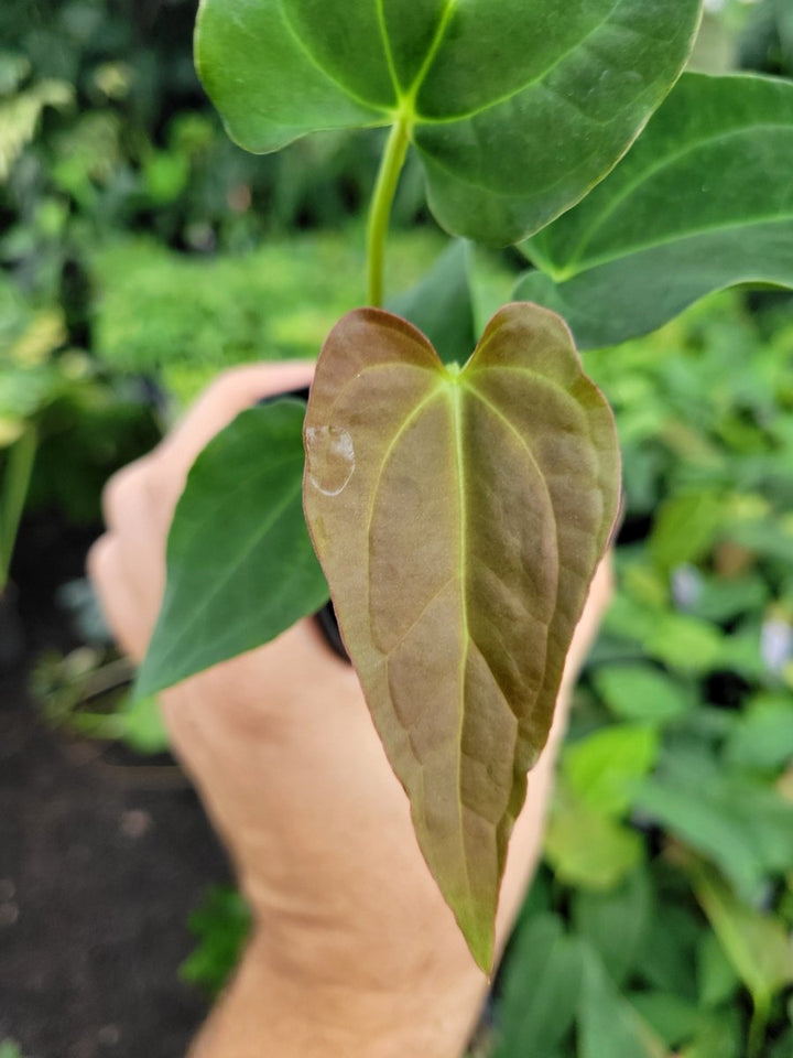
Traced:
MULTIPOLYGON (((394 285, 409 285, 442 245, 432 233, 404 233, 390 262, 394 285)), ((90 267, 97 356, 116 371, 157 379, 180 401, 231 364, 315 359, 334 323, 365 300, 357 227, 214 259, 126 240, 98 250, 90 267)))

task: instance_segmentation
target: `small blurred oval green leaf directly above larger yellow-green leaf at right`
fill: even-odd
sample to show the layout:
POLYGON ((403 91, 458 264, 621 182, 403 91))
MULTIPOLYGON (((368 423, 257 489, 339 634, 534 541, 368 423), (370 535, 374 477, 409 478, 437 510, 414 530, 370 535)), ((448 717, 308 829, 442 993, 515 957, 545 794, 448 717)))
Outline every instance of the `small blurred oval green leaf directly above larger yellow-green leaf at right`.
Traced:
POLYGON ((650 665, 606 665, 593 681, 608 708, 624 720, 665 724, 691 708, 674 678, 650 665))

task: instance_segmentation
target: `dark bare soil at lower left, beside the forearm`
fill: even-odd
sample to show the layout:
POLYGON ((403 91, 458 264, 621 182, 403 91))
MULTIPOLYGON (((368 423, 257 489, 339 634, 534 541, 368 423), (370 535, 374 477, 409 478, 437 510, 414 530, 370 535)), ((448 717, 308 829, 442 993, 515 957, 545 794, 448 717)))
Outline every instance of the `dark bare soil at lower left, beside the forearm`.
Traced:
POLYGON ((0 671, 0 1043, 24 1058, 180 1058, 207 1001, 177 970, 228 867, 170 759, 48 730, 26 687, 75 636, 54 595, 90 533, 40 518, 14 565, 23 658, 0 671))

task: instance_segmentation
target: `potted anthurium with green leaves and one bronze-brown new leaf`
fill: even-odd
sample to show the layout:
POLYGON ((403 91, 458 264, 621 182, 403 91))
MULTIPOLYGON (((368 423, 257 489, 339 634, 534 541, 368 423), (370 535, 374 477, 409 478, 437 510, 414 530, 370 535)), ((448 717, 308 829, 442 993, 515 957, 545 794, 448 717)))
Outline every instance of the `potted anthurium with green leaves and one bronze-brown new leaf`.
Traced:
POLYGON ((388 132, 369 304, 328 336, 307 412, 250 409, 197 460, 140 688, 258 647, 329 593, 485 971, 526 773, 619 505, 613 421, 576 343, 653 330, 720 287, 793 285, 793 85, 681 76, 699 15, 699 0, 203 0, 198 14, 198 72, 243 148, 388 132), (459 245, 390 302, 399 315, 382 309, 410 150, 446 231, 518 244, 533 266, 478 342, 459 245))

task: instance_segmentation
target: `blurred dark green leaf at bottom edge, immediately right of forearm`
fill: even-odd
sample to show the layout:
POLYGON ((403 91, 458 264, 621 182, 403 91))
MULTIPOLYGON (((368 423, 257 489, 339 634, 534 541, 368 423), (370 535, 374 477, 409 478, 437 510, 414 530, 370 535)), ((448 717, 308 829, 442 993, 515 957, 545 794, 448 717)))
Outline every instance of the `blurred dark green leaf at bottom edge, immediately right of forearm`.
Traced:
POLYGON ((552 1051, 575 1019, 582 973, 582 946, 565 933, 557 915, 539 915, 525 922, 512 941, 504 970, 493 1058, 552 1051))

